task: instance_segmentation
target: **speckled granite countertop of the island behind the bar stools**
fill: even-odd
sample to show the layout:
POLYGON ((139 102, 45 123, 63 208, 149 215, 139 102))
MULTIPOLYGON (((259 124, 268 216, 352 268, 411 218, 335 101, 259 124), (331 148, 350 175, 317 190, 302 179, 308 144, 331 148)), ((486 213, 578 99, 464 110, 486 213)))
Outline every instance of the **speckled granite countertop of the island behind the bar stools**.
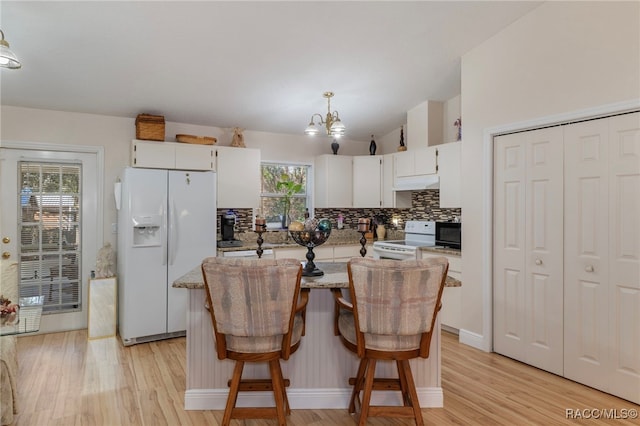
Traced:
MULTIPOLYGON (((324 272, 321 277, 302 277, 302 288, 348 288, 349 277, 344 262, 316 262, 316 266, 324 272)), ((447 276, 445 287, 460 287, 462 282, 447 276)), ((204 278, 200 266, 193 268, 173 282, 174 288, 204 288, 204 278)))

